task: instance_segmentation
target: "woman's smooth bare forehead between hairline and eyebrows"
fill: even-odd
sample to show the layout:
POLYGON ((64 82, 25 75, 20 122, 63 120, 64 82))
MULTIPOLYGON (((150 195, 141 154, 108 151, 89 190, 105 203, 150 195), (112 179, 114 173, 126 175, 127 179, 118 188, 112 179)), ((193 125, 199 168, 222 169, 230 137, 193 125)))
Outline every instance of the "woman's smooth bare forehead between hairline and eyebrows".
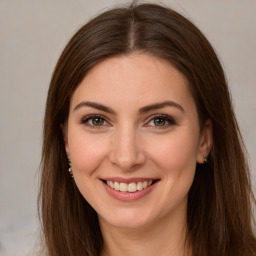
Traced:
POLYGON ((84 100, 113 107, 166 100, 194 105, 188 88, 186 77, 169 62, 134 53, 106 59, 92 68, 75 90, 71 108, 84 100))

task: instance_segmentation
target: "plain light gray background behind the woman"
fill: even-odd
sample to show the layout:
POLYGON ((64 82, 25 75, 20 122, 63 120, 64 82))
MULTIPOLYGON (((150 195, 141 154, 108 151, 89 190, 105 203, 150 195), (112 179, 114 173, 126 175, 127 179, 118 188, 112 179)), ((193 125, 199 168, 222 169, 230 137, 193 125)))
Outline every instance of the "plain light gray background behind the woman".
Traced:
MULTIPOLYGON (((36 241, 43 111, 57 58, 89 18, 125 2, 0 0, 0 256, 27 255, 36 241)), ((162 2, 194 21, 221 56, 256 184, 256 1, 162 2)))

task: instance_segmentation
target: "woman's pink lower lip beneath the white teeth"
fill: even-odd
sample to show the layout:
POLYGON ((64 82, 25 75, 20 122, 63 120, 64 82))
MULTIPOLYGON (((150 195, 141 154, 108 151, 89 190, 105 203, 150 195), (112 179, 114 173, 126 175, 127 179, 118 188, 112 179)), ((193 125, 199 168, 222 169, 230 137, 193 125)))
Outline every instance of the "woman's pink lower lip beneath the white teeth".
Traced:
MULTIPOLYGON (((157 183, 157 182, 156 182, 157 183)), ((124 202, 132 202, 139 200, 146 195, 148 195, 155 187, 156 183, 152 184, 151 186, 144 188, 142 190, 138 190, 136 192, 121 192, 109 187, 105 182, 102 182, 106 191, 114 198, 124 201, 124 202)))

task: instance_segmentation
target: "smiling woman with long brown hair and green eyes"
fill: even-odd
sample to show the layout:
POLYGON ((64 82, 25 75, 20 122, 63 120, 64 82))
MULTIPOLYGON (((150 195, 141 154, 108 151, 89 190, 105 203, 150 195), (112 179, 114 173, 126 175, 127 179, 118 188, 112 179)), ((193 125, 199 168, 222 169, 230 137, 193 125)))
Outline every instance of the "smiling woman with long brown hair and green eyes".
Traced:
POLYGON ((227 83, 190 21, 132 5, 73 36, 49 88, 40 198, 50 256, 256 255, 227 83))

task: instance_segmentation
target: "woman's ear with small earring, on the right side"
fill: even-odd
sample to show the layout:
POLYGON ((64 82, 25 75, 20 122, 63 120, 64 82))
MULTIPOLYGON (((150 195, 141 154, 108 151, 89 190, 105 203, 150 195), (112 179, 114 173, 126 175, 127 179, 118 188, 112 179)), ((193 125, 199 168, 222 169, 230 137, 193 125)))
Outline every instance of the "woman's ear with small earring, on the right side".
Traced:
POLYGON ((206 161, 212 148, 212 120, 208 119, 201 131, 199 139, 199 148, 197 154, 197 163, 203 164, 206 161))

